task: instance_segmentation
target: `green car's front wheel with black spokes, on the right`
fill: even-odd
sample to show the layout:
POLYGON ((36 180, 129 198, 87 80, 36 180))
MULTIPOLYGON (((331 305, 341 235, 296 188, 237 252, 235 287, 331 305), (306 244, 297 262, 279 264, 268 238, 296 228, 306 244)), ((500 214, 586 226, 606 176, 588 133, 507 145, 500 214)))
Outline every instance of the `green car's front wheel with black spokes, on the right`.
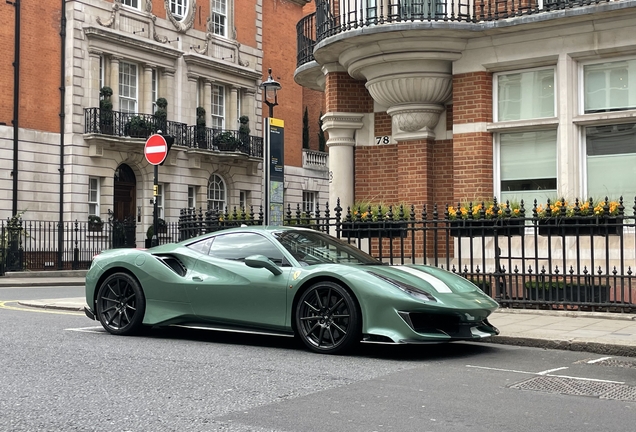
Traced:
POLYGON ((346 289, 333 282, 318 282, 298 301, 296 331, 312 351, 342 353, 360 339, 359 317, 358 306, 346 289))

